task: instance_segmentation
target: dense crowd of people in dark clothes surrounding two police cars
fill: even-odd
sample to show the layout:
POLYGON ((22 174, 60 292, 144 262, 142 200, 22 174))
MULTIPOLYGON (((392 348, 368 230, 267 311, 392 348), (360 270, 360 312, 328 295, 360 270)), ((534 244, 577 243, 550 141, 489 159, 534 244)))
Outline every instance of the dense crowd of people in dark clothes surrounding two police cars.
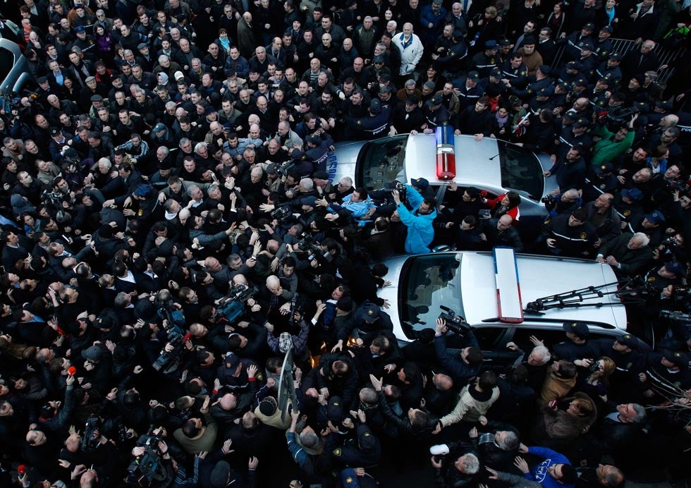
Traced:
POLYGON ((688 1, 0 11, 30 75, 0 115, 0 484, 269 486, 283 451, 292 488, 403 452, 437 487, 687 486, 688 1), (537 237, 514 191, 329 180, 337 142, 444 125, 549 154, 537 237), (635 336, 566 322, 500 369, 444 319, 401 347, 381 262, 436 245, 608 264, 635 336))

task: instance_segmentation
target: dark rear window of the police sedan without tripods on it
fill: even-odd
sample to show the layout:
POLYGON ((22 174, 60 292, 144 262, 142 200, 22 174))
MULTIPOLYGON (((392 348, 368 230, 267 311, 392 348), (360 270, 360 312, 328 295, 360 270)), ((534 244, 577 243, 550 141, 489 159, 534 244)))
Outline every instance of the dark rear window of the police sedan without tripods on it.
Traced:
POLYGON ((501 164, 501 186, 515 190, 522 197, 540 200, 544 192, 542 166, 535 155, 520 146, 496 141, 501 164))

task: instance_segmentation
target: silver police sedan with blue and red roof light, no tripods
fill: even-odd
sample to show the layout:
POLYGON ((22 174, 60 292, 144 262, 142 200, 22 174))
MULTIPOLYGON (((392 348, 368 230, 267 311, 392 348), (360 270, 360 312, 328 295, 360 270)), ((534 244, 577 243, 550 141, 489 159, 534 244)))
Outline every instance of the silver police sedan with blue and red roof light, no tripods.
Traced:
POLYGON ((396 135, 370 141, 341 142, 329 157, 331 181, 353 178, 355 186, 384 188, 391 181, 424 178, 436 189, 437 202, 447 205, 446 189, 453 181, 459 190, 475 186, 494 198, 509 190, 521 196, 520 231, 537 229, 548 213, 542 197, 556 188, 556 178, 544 178, 551 169, 547 154, 534 154, 504 140, 453 135, 451 126, 434 134, 396 135))

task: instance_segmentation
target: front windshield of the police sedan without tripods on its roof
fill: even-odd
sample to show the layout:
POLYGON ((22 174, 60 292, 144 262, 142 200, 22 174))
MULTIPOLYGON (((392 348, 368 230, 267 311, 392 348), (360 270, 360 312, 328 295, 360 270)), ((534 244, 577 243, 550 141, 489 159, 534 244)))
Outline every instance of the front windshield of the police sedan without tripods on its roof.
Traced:
POLYGON ((367 142, 357 156, 355 181, 362 181, 367 190, 378 190, 393 180, 405 177, 405 144, 408 135, 367 142))

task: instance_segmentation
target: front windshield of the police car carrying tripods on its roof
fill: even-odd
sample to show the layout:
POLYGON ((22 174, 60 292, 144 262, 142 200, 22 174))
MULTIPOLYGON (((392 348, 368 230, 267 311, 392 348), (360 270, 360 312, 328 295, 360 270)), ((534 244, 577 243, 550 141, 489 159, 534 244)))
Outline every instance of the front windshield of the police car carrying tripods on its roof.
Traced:
MULTIPOLYGON (((465 317, 460 296, 463 253, 410 257, 400 274, 398 307, 401 323, 415 330, 434 329, 440 306, 465 317)), ((403 327, 405 331, 408 327, 403 327)))

